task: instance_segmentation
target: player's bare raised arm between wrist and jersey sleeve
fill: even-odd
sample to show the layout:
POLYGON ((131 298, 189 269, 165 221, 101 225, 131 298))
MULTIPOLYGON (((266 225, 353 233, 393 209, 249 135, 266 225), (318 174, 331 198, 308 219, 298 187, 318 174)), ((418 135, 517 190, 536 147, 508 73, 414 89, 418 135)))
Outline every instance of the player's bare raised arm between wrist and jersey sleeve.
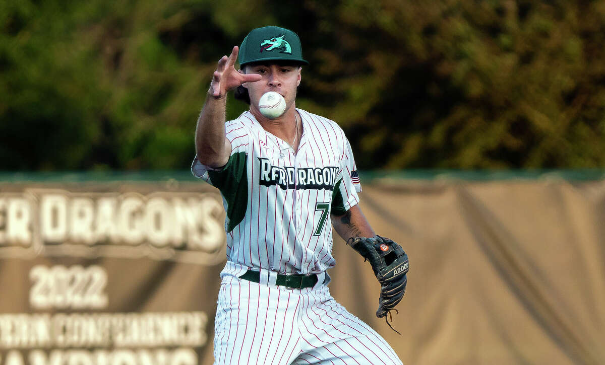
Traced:
POLYGON ((209 91, 197 120, 195 152, 206 166, 224 166, 231 153, 231 143, 225 138, 226 100, 226 95, 215 98, 209 91))

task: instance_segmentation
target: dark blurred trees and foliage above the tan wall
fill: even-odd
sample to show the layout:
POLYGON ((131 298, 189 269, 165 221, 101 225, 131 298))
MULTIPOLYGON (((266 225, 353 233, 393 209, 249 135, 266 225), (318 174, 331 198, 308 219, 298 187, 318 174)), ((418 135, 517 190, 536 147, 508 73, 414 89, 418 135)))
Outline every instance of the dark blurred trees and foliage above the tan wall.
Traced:
POLYGON ((605 167, 605 1, 7 0, 0 170, 187 169, 217 60, 263 25, 299 34, 297 106, 360 169, 605 167))

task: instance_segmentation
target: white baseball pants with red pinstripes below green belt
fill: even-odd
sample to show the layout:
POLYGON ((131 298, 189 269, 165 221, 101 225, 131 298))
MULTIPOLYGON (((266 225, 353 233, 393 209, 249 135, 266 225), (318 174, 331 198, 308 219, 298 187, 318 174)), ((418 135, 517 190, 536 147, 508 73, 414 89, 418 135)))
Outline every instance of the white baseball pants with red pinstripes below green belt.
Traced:
POLYGON ((227 262, 221 274, 214 364, 402 364, 379 334, 336 303, 323 275, 299 290, 275 286, 267 270, 261 283, 239 279, 246 270, 227 262))

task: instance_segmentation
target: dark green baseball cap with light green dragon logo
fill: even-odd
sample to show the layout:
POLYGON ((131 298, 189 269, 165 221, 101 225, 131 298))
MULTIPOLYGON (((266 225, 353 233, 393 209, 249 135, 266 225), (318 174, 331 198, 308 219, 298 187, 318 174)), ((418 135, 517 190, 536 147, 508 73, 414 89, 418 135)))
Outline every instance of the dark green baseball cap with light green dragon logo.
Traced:
POLYGON ((304 63, 301 40, 296 33, 286 28, 262 27, 250 31, 241 42, 240 66, 250 62, 285 60, 304 63))

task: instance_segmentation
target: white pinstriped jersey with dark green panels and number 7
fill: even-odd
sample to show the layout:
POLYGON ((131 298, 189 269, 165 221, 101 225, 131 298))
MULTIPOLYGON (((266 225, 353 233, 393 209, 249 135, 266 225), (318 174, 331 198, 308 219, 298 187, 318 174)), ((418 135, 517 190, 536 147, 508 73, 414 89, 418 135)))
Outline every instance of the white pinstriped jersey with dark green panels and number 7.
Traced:
POLYGON ((359 202, 355 160, 338 124, 296 110, 303 126, 296 154, 246 111, 226 123, 226 166, 209 169, 197 158, 191 166, 221 191, 231 262, 299 274, 335 265, 329 215, 359 202))

